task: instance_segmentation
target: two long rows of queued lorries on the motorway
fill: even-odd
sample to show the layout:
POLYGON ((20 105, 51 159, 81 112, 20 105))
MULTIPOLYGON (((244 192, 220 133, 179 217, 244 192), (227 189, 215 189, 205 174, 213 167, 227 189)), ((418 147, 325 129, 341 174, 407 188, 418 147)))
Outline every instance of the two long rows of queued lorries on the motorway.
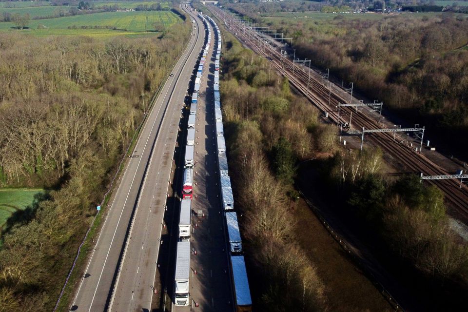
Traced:
MULTIPOLYGON (((190 304, 190 234, 192 219, 192 201, 194 196, 194 146, 195 146, 195 118, 196 106, 198 104, 198 92, 200 90, 200 80, 203 74, 207 55, 211 46, 210 22, 215 28, 214 45, 215 53, 215 79, 214 79, 214 110, 216 122, 216 149, 217 149, 217 172, 219 173, 219 192, 221 196, 221 207, 225 215, 226 237, 229 242, 230 273, 232 289, 234 291, 235 310, 252 311, 252 298, 250 295, 249 281, 245 268, 242 239, 237 222, 237 214, 234 212, 234 196, 229 177, 228 160, 226 156, 226 143, 224 139, 224 129, 221 113, 221 97, 219 93, 219 60, 221 55, 220 31, 215 21, 201 13, 198 17, 206 25, 208 37, 201 57, 198 62, 198 69, 194 81, 194 93, 190 107, 190 115, 187 124, 187 141, 185 146, 183 187, 181 190, 180 217, 179 217, 179 241, 177 242, 176 274, 174 285, 174 303, 176 306, 187 306, 190 304)), ((210 57, 210 56, 208 56, 210 57)), ((208 63, 208 62, 207 62, 208 63)), ((208 97, 209 95, 207 95, 208 97)), ((215 164, 213 164, 215 165, 215 164)))

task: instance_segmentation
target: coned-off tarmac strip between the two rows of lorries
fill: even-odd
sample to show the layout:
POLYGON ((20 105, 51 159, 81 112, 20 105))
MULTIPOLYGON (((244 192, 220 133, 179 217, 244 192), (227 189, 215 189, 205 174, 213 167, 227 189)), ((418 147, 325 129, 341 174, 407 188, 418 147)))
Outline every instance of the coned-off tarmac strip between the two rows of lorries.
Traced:
MULTIPOLYGON (((198 19, 197 19, 198 20, 198 19)), ((227 258, 224 215, 217 173, 216 124, 213 85, 215 78, 215 29, 210 25, 211 46, 203 66, 196 112, 195 174, 192 210, 193 233, 191 267, 197 274, 191 275, 190 297, 203 312, 234 310, 229 261, 227 258), (195 226, 196 224, 196 226, 195 226)), ((175 307, 172 311, 190 311, 190 307, 175 307)))

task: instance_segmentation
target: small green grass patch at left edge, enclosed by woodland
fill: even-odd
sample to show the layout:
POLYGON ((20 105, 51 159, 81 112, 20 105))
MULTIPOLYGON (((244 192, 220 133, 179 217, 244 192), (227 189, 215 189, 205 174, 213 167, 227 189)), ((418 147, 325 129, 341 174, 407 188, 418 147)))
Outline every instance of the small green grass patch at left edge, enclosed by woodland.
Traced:
POLYGON ((40 194, 41 189, 0 189, 0 228, 16 211, 32 206, 34 196, 40 194))

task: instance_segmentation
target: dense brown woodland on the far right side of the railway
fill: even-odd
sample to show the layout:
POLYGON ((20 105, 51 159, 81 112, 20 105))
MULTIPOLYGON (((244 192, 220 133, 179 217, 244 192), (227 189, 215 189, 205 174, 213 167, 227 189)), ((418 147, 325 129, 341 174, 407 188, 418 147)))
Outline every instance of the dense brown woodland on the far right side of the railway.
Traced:
POLYGON ((330 68, 340 84, 341 78, 354 82, 370 100, 382 100, 387 108, 408 117, 409 124, 430 125, 432 137, 440 130, 438 144, 455 144, 449 134, 460 130, 465 135, 457 145, 468 143, 467 17, 404 14, 381 20, 340 15, 333 20, 266 20, 246 7, 234 6, 255 22, 292 37, 296 56, 312 59, 323 70, 330 68))

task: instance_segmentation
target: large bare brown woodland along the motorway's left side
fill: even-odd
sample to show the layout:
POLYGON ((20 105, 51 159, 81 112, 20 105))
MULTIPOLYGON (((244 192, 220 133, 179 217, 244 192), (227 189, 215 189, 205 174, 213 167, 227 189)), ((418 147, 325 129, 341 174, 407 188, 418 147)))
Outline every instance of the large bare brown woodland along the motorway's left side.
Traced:
POLYGON ((143 105, 190 27, 138 39, 0 34, 0 186, 48 194, 2 235, 0 310, 52 311, 143 105))

